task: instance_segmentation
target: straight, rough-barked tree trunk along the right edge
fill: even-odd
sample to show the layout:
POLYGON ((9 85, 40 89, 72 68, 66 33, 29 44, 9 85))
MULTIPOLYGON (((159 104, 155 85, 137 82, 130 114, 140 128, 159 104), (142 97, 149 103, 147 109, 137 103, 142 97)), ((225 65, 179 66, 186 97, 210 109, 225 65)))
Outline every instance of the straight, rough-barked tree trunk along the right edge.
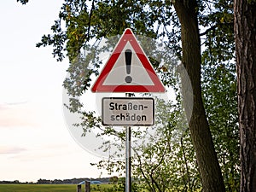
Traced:
POLYGON ((256 191, 256 1, 235 0, 240 191, 256 191), (251 2, 251 3, 248 3, 251 2))

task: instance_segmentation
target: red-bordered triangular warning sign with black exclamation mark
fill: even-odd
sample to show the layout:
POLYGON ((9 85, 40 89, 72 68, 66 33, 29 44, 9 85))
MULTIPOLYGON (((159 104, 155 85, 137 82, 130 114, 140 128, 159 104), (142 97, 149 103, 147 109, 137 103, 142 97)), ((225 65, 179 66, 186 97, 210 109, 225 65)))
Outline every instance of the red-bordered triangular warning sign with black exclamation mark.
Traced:
POLYGON ((92 92, 165 92, 131 29, 126 29, 92 92))

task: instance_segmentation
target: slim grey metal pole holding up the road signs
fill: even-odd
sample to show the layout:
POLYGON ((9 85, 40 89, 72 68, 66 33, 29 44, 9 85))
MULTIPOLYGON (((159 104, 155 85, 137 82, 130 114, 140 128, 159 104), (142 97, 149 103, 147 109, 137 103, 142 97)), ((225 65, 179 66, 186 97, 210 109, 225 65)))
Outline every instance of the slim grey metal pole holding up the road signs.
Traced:
MULTIPOLYGON (((131 97, 131 94, 126 93, 125 96, 131 97)), ((131 126, 125 129, 125 192, 131 192, 131 126)))

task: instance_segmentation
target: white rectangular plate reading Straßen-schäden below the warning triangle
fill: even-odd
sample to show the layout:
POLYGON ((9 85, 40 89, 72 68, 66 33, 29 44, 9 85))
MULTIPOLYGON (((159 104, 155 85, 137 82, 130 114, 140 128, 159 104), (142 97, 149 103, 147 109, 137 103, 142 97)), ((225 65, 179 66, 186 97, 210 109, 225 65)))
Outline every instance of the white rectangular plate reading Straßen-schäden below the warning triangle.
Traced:
POLYGON ((154 125, 154 98, 102 98, 102 125, 154 125))

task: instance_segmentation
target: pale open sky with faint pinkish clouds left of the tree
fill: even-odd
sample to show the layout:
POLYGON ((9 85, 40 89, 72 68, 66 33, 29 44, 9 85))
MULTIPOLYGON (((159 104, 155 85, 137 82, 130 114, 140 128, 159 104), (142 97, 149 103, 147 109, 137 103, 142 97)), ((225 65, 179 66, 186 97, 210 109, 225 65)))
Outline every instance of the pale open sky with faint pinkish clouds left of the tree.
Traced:
POLYGON ((101 159, 74 141, 63 117, 68 61, 57 62, 51 47, 35 46, 50 32, 61 4, 0 3, 0 180, 101 176, 90 166, 101 159))

